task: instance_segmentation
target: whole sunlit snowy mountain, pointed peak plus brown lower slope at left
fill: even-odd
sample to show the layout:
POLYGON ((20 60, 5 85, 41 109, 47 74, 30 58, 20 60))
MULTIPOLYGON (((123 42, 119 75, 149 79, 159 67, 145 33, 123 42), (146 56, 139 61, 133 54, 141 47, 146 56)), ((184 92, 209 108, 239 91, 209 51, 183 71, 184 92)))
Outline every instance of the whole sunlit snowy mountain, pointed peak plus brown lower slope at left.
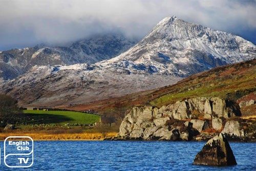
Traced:
POLYGON ((31 106, 74 105, 163 87, 216 66, 254 59, 243 38, 167 17, 130 50, 95 64, 34 66, 0 92, 31 106))

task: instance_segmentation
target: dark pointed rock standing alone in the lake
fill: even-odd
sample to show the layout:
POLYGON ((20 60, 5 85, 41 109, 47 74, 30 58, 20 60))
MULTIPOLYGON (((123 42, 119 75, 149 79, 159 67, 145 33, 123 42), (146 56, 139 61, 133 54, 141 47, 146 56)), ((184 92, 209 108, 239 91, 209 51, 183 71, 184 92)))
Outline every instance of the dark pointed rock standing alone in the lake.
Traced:
POLYGON ((197 154, 196 165, 227 166, 236 165, 236 159, 223 134, 209 139, 203 149, 197 154))

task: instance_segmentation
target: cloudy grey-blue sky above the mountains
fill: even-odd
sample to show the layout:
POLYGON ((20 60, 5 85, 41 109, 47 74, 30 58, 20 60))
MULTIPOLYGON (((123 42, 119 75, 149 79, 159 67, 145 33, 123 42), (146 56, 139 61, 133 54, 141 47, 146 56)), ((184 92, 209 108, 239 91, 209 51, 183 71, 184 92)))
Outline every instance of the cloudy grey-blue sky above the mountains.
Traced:
POLYGON ((121 31, 142 38, 164 17, 237 34, 256 43, 256 1, 0 0, 0 51, 62 44, 121 31))

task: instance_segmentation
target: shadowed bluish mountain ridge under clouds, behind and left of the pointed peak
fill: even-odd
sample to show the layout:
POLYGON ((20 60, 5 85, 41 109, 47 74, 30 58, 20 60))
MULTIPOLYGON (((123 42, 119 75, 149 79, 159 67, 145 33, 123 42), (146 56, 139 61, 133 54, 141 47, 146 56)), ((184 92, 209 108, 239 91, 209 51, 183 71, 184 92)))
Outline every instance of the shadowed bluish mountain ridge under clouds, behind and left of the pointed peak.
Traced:
POLYGON ((94 35, 68 46, 40 44, 31 48, 0 52, 0 79, 24 74, 35 65, 72 65, 111 59, 132 47, 136 40, 122 34, 94 35))

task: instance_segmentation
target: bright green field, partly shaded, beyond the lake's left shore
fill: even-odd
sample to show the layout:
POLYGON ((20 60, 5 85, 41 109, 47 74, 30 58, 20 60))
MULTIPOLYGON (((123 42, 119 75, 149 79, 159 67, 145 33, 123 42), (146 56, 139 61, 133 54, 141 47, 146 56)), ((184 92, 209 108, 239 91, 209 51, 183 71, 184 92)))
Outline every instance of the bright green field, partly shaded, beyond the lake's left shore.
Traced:
POLYGON ((94 124, 100 116, 73 111, 23 110, 27 124, 94 124))

